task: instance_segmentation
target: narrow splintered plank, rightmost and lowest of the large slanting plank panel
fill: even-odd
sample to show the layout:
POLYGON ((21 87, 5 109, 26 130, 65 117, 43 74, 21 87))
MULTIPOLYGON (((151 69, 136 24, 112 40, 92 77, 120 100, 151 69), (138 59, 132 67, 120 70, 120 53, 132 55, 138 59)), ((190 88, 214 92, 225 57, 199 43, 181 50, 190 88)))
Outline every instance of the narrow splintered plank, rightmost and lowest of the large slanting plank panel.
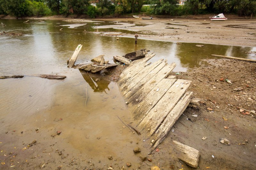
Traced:
POLYGON ((151 137, 151 140, 155 140, 155 143, 152 145, 152 151, 156 149, 158 144, 162 143, 174 123, 179 119, 180 115, 182 115, 184 110, 187 108, 189 102, 191 101, 192 94, 193 92, 186 92, 183 95, 183 97, 179 100, 172 111, 166 116, 164 122, 159 126, 154 135, 151 137))

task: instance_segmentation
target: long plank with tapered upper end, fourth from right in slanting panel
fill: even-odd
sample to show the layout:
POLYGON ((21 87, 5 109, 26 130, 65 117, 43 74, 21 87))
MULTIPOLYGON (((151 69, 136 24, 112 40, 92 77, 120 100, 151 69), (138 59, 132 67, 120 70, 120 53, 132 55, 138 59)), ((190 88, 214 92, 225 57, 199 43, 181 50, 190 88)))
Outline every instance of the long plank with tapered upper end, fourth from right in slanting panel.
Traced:
MULTIPOLYGON (((148 82, 146 82, 142 87, 136 91, 131 90, 127 92, 124 95, 125 100, 129 101, 130 103, 133 101, 132 99, 130 100, 130 97, 134 99, 138 99, 139 101, 143 99, 148 92, 152 90, 153 87, 155 87, 156 84, 158 84, 163 78, 165 78, 176 66, 176 63, 172 63, 170 65, 166 65, 163 69, 161 69, 154 77, 152 77, 148 82)), ((137 87, 139 84, 137 84, 137 87)))

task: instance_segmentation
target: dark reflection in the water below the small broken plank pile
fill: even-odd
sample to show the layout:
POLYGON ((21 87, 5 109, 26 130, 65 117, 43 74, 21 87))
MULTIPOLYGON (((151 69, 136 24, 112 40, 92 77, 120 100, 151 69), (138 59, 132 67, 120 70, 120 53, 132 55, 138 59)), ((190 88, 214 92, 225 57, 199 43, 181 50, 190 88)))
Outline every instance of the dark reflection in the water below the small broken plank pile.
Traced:
POLYGON ((110 81, 90 76, 87 72, 82 72, 84 80, 91 86, 93 92, 105 92, 109 91, 108 85, 110 81), (99 79, 99 80, 96 80, 99 79))

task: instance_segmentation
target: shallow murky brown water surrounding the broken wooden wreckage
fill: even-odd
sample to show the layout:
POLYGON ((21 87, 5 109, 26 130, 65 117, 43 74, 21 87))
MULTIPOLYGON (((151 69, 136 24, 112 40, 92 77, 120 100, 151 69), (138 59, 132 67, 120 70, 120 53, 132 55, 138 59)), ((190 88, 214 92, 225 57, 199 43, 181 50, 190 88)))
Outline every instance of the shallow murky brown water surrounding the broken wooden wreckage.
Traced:
MULTIPOLYGON (((0 27, 0 32, 24 33, 23 36, 0 35, 0 75, 26 75, 21 79, 0 80, 0 149, 3 153, 22 151, 20 155, 23 157, 14 160, 15 165, 18 161, 24 162, 31 156, 45 153, 43 160, 47 161, 50 160, 45 158, 48 153, 50 155, 51 151, 63 149, 66 155, 75 155, 73 159, 77 156, 85 162, 94 160, 98 167, 114 165, 113 161, 106 159, 109 155, 118 167, 126 162, 138 162, 134 163, 134 168, 147 167, 135 161, 138 157, 134 156, 133 148, 148 147, 148 141, 144 143, 142 136, 132 135, 127 127, 123 128, 124 124, 117 117, 126 123, 132 121, 116 83, 104 78, 96 83, 94 78, 82 76, 79 70, 67 68, 66 61, 78 44, 83 44, 83 48, 76 63, 86 63, 101 54, 105 54, 106 60, 112 60, 113 55, 147 48, 156 52, 152 61, 164 58, 168 63, 175 62, 177 66, 174 71, 186 71, 204 64, 202 59, 211 58, 213 53, 251 58, 250 54, 244 54, 256 50, 211 44, 197 48, 193 43, 175 44, 141 39, 135 45, 132 38, 121 37, 116 41, 115 37, 83 33, 84 30, 115 31, 112 28, 92 28, 113 24, 108 21, 86 23, 77 28, 61 26, 70 23, 60 20, 46 20, 45 23, 23 21, 0 20, 6 24, 0 27), (62 27, 63 31, 59 31, 62 27), (67 78, 48 80, 31 76, 52 73, 66 75, 67 78), (37 128, 38 133, 35 131, 37 128), (51 137, 56 135, 57 130, 62 133, 51 137), (34 139, 37 139, 37 149, 21 150, 34 139)), ((147 153, 142 151, 144 155, 147 153)), ((33 169, 31 164, 29 166, 33 169)))

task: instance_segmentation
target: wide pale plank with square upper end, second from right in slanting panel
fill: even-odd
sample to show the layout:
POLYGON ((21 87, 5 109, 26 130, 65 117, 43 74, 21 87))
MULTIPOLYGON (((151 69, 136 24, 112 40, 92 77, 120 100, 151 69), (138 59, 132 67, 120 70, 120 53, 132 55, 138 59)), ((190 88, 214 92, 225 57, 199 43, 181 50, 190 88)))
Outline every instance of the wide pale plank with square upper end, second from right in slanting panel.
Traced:
POLYGON ((191 81, 178 79, 140 122, 139 128, 144 130, 148 136, 151 136, 178 103, 190 83, 191 81), (148 131, 148 129, 150 130, 148 131))

